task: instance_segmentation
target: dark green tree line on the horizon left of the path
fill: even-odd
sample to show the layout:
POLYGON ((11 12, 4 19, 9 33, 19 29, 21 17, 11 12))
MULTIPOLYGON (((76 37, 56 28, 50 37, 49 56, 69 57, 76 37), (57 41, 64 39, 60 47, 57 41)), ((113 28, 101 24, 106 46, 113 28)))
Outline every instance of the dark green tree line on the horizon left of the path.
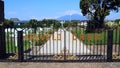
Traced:
POLYGON ((61 27, 61 23, 54 19, 43 19, 42 21, 38 21, 36 19, 30 19, 28 22, 13 22, 9 19, 4 20, 4 27, 6 28, 12 28, 12 27, 26 27, 26 28, 37 28, 37 27, 48 27, 48 28, 54 28, 58 29, 61 27))

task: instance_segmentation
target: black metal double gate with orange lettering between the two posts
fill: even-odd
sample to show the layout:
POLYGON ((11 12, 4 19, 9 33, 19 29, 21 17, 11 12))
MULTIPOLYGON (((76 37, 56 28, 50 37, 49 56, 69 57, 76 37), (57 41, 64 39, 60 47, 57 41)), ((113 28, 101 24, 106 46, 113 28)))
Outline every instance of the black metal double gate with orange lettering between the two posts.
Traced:
POLYGON ((107 61, 107 30, 94 34, 81 27, 43 30, 23 31, 24 61, 107 61))

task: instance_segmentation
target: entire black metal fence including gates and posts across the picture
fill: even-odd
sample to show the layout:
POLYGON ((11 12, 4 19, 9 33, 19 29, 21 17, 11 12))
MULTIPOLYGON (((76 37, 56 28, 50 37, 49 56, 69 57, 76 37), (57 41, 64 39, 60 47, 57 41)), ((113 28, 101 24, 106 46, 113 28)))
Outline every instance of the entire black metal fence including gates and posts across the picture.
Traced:
POLYGON ((61 27, 58 30, 37 27, 5 28, 4 31, 6 58, 0 61, 120 61, 119 28, 89 32, 86 24, 80 23, 76 27, 61 27))

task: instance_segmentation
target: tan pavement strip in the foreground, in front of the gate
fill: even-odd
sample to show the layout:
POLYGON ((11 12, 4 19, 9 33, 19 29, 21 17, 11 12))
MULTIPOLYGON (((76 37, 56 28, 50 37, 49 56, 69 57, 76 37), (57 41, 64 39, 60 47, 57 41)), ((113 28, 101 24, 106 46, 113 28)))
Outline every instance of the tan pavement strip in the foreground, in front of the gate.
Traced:
POLYGON ((0 68, 120 68, 120 63, 1 63, 0 68))

